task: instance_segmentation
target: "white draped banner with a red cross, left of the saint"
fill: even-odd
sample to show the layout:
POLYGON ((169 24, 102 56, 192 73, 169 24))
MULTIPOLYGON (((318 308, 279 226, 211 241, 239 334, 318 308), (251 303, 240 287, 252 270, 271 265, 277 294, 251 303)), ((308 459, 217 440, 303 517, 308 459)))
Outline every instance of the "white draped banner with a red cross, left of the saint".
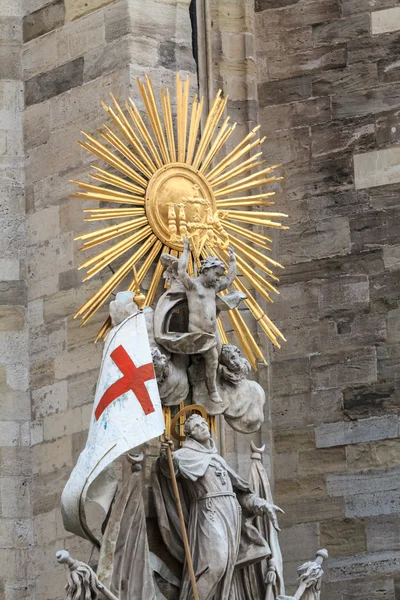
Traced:
POLYGON ((138 312, 114 327, 105 343, 88 439, 61 497, 67 531, 95 542, 85 517, 89 486, 91 499, 107 511, 115 485, 107 484, 105 469, 164 429, 145 318, 138 312))

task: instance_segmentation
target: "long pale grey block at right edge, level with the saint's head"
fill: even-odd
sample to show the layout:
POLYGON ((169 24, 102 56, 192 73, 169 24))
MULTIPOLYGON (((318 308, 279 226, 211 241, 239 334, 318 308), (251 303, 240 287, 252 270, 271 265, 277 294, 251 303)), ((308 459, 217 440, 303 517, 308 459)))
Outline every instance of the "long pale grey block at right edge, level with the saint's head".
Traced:
POLYGON ((319 425, 315 433, 317 448, 346 446, 347 444, 397 438, 399 421, 393 415, 360 419, 355 422, 339 421, 319 425))

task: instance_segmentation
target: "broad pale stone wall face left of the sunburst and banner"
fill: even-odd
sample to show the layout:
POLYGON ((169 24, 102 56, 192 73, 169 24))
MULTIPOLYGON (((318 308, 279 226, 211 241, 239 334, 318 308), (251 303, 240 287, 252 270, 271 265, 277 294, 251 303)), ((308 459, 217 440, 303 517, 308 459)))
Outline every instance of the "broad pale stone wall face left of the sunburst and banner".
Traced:
MULTIPOLYGON (((100 101, 137 97, 149 73, 156 91, 195 66, 189 2, 29 0, 24 3, 25 172, 29 221, 28 310, 32 399, 32 569, 36 600, 63 597, 55 552, 87 560, 89 544, 69 536, 60 495, 86 442, 101 344, 91 342, 105 310, 84 328, 72 315, 101 284, 81 283, 73 238, 87 230, 71 179, 87 180, 92 157, 76 143, 106 119, 100 101)), ((105 276, 107 273, 105 273, 105 276)), ((7 599, 8 600, 8 599, 7 599)))

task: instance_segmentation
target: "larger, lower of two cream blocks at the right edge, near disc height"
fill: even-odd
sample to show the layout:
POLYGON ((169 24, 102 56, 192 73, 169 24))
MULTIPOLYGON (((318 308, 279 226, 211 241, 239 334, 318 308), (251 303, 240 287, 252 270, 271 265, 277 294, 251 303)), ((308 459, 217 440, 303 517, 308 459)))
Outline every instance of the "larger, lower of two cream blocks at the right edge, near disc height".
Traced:
POLYGON ((400 182, 400 147, 393 146, 354 155, 356 189, 400 182))

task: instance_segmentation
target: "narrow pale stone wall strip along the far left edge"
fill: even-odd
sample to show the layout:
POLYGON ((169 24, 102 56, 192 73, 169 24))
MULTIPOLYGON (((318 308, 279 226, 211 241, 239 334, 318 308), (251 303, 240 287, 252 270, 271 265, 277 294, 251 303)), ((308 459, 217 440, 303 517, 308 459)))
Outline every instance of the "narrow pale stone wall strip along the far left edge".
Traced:
POLYGON ((0 597, 30 597, 32 564, 26 314, 22 20, 0 0, 0 597))

